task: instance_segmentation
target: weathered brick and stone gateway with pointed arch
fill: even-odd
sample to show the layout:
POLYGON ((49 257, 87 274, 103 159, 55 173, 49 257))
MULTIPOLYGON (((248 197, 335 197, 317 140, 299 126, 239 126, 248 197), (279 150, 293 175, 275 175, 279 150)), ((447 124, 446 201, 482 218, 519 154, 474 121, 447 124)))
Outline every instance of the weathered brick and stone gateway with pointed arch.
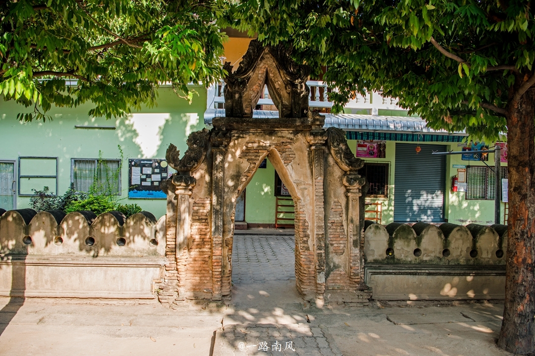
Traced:
POLYGON ((363 165, 345 132, 324 130, 324 118, 308 110, 310 69, 291 49, 251 41, 240 67, 226 64, 226 117, 213 129, 193 132, 180 158, 173 145, 166 159, 176 169, 162 185, 167 193, 165 276, 162 303, 221 300, 232 290, 236 200, 267 157, 295 204, 296 288, 306 300, 365 305, 361 208, 363 165), (253 118, 264 85, 279 118, 253 118))

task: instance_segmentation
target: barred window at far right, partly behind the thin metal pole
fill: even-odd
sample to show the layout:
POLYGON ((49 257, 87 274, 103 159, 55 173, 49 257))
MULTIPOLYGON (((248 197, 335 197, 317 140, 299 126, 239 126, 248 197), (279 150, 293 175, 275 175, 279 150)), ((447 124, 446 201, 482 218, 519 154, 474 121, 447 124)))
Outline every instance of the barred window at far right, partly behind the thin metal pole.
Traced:
MULTIPOLYGON (((501 167, 501 178, 507 178, 507 167, 501 167)), ((469 166, 467 170, 467 200, 494 200, 495 175, 491 167, 469 166)))

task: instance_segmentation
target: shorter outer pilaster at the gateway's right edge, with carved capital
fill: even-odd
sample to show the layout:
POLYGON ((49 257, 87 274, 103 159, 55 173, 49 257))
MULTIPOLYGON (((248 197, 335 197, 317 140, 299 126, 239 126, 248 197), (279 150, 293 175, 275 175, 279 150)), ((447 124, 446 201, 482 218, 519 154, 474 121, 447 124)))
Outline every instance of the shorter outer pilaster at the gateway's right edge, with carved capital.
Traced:
POLYGON ((361 278, 364 273, 364 268, 362 268, 364 266, 364 255, 361 251, 361 211, 359 202, 364 179, 357 175, 356 172, 350 172, 343 177, 342 183, 346 187, 347 196, 347 241, 350 252, 349 279, 351 282, 359 284, 364 282, 361 278))

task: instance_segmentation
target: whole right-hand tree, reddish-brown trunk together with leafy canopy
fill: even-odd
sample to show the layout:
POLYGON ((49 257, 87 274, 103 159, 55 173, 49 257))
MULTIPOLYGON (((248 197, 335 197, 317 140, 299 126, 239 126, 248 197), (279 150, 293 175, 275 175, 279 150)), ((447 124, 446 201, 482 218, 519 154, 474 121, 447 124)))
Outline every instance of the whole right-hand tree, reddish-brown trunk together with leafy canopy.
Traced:
POLYGON ((498 345, 535 350, 534 9, 527 0, 244 0, 228 21, 288 41, 315 75, 326 66, 340 111, 382 91, 435 129, 509 145, 506 304, 498 345))

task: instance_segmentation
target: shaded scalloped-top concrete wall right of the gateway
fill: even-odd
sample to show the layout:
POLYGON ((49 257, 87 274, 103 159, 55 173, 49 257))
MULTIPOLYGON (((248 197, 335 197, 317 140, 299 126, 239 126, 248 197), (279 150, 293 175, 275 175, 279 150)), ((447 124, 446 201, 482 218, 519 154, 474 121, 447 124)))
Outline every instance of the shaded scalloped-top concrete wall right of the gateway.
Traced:
POLYGON ((507 226, 369 223, 364 281, 380 300, 503 299, 507 226))

